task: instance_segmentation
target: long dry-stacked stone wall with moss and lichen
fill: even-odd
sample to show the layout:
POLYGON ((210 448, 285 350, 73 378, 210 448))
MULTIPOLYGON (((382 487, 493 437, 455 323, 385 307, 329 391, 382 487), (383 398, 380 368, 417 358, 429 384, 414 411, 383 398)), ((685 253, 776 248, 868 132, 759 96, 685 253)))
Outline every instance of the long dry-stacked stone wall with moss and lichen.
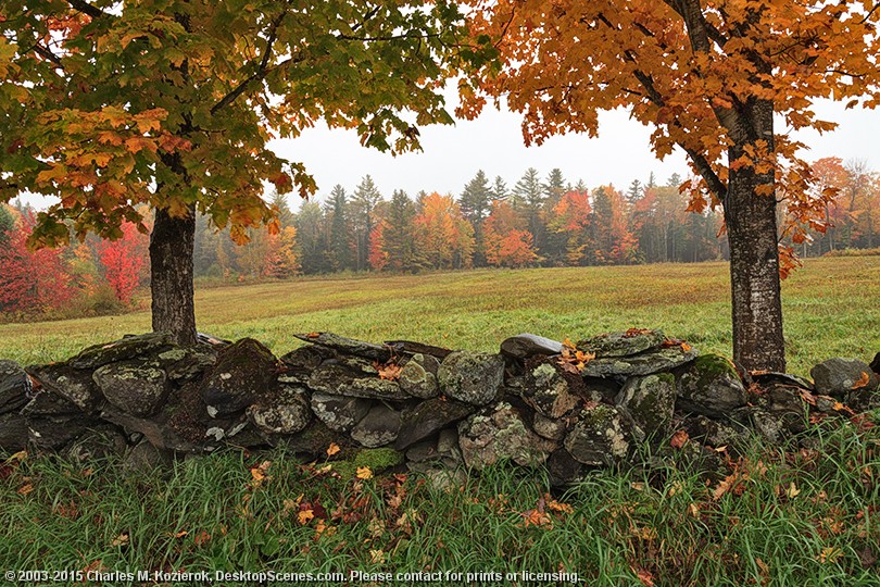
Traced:
POLYGON ((712 459, 753 434, 783 442, 817 419, 880 407, 880 353, 871 365, 831 359, 809 382, 745 373, 658 330, 574 346, 524 334, 499 353, 297 338, 306 345, 280 359, 250 338, 179 348, 159 333, 62 363, 0 361, 0 450, 136 459, 282 446, 326 458, 336 444, 341 458, 384 449, 429 474, 545 465, 565 484, 648 453, 712 459))

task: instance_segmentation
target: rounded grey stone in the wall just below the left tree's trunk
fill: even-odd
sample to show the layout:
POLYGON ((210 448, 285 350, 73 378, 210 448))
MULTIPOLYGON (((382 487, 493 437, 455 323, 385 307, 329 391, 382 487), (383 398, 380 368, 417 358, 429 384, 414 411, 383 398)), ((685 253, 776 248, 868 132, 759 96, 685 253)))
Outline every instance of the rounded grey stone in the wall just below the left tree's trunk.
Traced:
POLYGON ((144 361, 110 363, 92 378, 110 403, 134 416, 153 414, 168 392, 165 372, 144 361))

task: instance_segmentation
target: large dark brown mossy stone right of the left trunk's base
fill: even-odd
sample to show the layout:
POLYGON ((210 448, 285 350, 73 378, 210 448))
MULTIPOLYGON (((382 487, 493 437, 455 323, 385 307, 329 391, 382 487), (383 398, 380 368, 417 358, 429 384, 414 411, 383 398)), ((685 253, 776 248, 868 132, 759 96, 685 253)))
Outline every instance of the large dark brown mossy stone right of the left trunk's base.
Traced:
POLYGON ((252 338, 242 338, 221 351, 214 369, 202 379, 202 400, 216 415, 232 414, 272 390, 277 371, 272 351, 252 338))

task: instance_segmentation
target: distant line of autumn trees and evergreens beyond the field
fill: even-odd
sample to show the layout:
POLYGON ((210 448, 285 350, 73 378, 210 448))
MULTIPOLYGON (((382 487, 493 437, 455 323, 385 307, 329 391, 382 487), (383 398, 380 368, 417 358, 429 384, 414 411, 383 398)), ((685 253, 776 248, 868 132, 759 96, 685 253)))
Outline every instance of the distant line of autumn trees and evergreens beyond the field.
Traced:
MULTIPOLYGON (((865 162, 820 159, 814 195, 832 193, 825 225, 804 237, 780 235, 801 257, 880 246, 880 180, 865 162)), ((293 212, 274 196, 277 223, 252 229, 239 246, 229 230, 198 216, 194 273, 231 280, 336 272, 467 267, 692 263, 727 259, 719 212, 688 210, 674 174, 649 176, 625 191, 571 185, 558 168, 528 168, 511 187, 482 171, 457 196, 402 190, 385 198, 365 176, 352 192, 335 186, 293 212)), ((784 202, 783 202, 784 203, 784 202)), ((785 213, 784 205, 780 214, 785 213)), ((147 228, 150 214, 144 210, 147 228)), ((124 223, 115 240, 95 236, 70 247, 30 251, 35 212, 0 205, 0 313, 68 308, 114 311, 149 283, 149 236, 124 223), (103 308, 103 310, 102 310, 103 308)), ((781 223, 780 223, 781 225, 781 223)))

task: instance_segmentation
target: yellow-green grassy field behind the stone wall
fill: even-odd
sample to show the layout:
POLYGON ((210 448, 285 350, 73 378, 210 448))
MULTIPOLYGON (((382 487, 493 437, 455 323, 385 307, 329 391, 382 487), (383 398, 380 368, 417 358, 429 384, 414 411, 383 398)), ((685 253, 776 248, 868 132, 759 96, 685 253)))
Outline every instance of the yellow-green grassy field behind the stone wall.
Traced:
MULTIPOLYGON (((293 333, 332 330, 381 341, 496 350, 530 332, 580 337, 662 328, 702 351, 731 353, 729 275, 724 263, 472 271, 407 276, 302 278, 197 292, 202 332, 250 336, 276 354, 293 333)), ((807 374, 830 357, 880 351, 880 257, 810 259, 783 283, 789 371, 807 374)), ((148 312, 0 325, 0 358, 62 360, 87 345, 150 329, 148 312)))

